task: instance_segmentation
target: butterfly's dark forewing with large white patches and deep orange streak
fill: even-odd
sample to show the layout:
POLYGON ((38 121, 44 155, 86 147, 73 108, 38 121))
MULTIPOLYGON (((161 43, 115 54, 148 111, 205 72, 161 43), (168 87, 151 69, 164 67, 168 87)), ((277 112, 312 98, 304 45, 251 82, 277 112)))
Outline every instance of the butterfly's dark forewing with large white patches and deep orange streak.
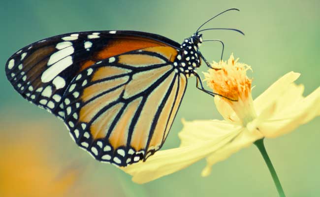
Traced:
POLYGON ((177 47, 177 43, 165 37, 130 31, 58 35, 35 42, 12 55, 5 66, 6 76, 25 99, 64 118, 63 94, 80 71, 128 51, 169 46, 163 41, 177 47))

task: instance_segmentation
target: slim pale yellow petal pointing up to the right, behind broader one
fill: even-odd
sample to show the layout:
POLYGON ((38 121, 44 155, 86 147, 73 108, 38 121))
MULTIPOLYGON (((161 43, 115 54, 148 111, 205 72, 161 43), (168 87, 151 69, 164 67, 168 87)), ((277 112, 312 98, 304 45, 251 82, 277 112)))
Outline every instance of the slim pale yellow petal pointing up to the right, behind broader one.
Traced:
POLYGON ((294 82, 299 76, 300 76, 300 73, 292 72, 292 71, 288 72, 287 74, 282 76, 280 79, 278 79, 276 82, 274 82, 260 96, 258 96, 254 100, 254 106, 255 106, 257 115, 259 115, 264 108, 268 107, 275 100, 279 99, 279 97, 283 94, 283 92, 287 90, 289 84, 294 82))

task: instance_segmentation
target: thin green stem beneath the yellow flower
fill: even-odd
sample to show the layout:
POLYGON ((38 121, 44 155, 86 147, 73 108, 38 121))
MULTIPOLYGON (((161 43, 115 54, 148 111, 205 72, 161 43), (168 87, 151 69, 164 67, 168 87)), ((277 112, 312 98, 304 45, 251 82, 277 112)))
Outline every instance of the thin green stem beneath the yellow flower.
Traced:
POLYGON ((268 168, 269 168, 269 171, 270 171, 270 174, 272 176, 272 179, 273 179, 273 182, 274 184, 276 185, 276 188, 278 190, 278 193, 279 193, 279 197, 286 197, 285 195, 285 192, 281 186, 281 183, 280 183, 280 180, 278 178, 278 175, 276 173, 276 170, 274 169, 272 163, 271 163, 271 160, 267 154, 267 151, 265 150, 265 147, 264 147, 264 144, 263 144, 263 139, 259 139, 259 140, 256 140, 256 142, 254 143, 256 145, 256 147, 259 149, 265 163, 267 164, 268 168))

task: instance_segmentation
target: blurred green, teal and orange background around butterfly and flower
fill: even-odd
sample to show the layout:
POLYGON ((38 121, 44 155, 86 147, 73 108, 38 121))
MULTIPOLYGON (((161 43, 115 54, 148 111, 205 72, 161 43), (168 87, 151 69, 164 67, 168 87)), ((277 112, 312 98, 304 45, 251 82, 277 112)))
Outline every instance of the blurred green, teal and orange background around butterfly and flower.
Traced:
MULTIPOLYGON (((277 196, 254 146, 214 165, 209 177, 200 176, 205 165, 200 161, 137 185, 120 169, 96 162, 80 150, 63 122, 22 99, 4 74, 5 62, 15 51, 42 38, 78 31, 136 30, 181 42, 205 20, 232 7, 241 11, 226 13, 205 27, 237 28, 246 35, 207 31, 203 38, 223 40, 224 59, 233 52, 252 66, 254 98, 291 70, 301 73, 297 83, 305 85, 305 95, 320 85, 318 0, 0 0, 0 196, 46 192, 68 197, 277 196)), ((208 61, 218 61, 221 45, 205 43, 201 51, 208 61)), ((202 66, 199 71, 206 69, 202 66)), ((213 99, 195 88, 194 78, 163 149, 179 145, 181 118, 222 118, 213 99)), ((289 197, 320 195, 319 127, 318 117, 290 134, 265 140, 289 197)))

